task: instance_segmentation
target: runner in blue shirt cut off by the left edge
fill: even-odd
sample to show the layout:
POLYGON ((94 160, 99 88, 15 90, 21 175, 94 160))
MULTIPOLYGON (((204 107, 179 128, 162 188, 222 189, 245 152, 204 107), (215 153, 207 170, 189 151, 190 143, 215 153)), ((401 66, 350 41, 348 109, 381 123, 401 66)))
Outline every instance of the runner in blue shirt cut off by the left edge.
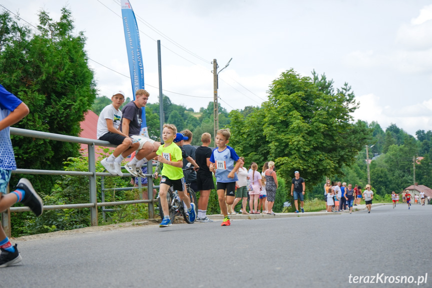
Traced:
MULTIPOLYGON (((36 216, 41 216, 44 203, 28 179, 21 178, 16 188, 13 189, 14 191, 6 194, 12 170, 17 169, 9 126, 14 125, 27 114, 29 114, 29 107, 0 85, 0 147, 2 147, 0 156, 0 212, 9 209, 17 202, 21 202, 30 207, 36 216)), ((17 244, 12 246, 2 225, 0 225, 0 250, 2 251, 0 253, 0 267, 13 265, 22 260, 17 244)))

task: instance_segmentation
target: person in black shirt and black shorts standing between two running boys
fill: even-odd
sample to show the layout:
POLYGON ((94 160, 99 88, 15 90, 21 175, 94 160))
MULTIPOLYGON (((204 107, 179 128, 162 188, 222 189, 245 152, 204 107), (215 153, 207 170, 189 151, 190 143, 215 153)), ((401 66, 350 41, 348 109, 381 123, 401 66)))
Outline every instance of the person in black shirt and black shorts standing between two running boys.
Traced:
POLYGON ((210 157, 212 149, 208 146, 211 143, 211 135, 203 133, 201 136, 202 146, 198 147, 195 152, 195 159, 200 166, 197 171, 197 187, 200 191, 200 198, 198 200, 198 222, 213 222, 212 219, 207 217, 207 205, 209 201, 210 192, 214 189, 213 174, 210 172, 210 157))

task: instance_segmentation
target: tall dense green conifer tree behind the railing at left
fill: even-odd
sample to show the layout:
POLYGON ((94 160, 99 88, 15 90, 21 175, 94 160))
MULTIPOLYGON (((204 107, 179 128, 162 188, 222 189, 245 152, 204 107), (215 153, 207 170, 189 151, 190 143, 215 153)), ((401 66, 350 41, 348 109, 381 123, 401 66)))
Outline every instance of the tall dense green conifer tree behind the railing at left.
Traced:
MULTIPOLYGON (((0 15, 0 82, 30 108, 16 127, 78 136, 84 112, 96 98, 84 49, 86 38, 83 32, 73 33, 72 15, 66 8, 59 21, 40 12, 39 22, 39 32, 33 34, 7 12, 0 15)), ((68 157, 78 155, 79 148, 73 143, 18 136, 13 137, 13 144, 18 166, 30 169, 61 169, 68 157)), ((41 191, 49 188, 46 184, 36 186, 41 191)))

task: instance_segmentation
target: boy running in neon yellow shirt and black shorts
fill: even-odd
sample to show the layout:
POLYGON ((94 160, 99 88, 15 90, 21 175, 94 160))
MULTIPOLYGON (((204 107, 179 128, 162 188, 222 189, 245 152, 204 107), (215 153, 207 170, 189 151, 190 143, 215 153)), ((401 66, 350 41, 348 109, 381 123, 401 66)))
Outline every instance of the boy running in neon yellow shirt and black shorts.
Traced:
MULTIPOLYGON (((159 197, 161 199, 162 210, 164 212, 164 219, 159 227, 171 226, 170 214, 168 211, 167 191, 173 186, 177 190, 180 199, 186 204, 189 213, 189 220, 191 223, 195 221, 195 204, 191 203, 186 191, 185 178, 183 176, 183 160, 182 150, 179 146, 173 143, 174 138, 177 136, 177 128, 173 124, 164 124, 162 131, 162 138, 165 142, 164 145, 159 146, 156 154, 158 161, 163 163, 164 166, 161 171, 162 179, 159 188, 159 197)), ((158 177, 158 172, 154 174, 155 178, 158 177)))

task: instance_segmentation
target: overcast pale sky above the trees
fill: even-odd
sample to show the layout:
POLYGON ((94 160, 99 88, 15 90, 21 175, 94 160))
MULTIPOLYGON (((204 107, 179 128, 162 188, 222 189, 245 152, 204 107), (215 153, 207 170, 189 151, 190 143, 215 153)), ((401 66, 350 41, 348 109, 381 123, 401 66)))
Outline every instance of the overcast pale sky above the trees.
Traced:
MULTIPOLYGON (((162 87, 171 101, 198 111, 213 101, 213 66, 228 111, 260 105, 269 85, 293 68, 347 82, 360 102, 355 119, 395 123, 406 132, 432 130, 432 5, 430 1, 130 0, 141 31, 144 78, 158 101, 156 40, 162 44, 162 87), (155 31, 156 30, 156 31, 155 31), (167 39, 168 38, 168 39, 167 39), (174 42, 175 44, 171 43, 174 42), (151 87, 154 86, 154 87, 151 87)), ((67 6, 84 31, 90 59, 129 76, 117 0, 3 0, 37 26, 40 10, 59 20, 67 6), (112 11, 111 11, 112 10, 112 11), (117 14, 117 15, 116 15, 117 14)), ((3 8, 0 8, 3 9, 3 8)), ((123 90, 130 79, 90 61, 99 95, 123 90)))

